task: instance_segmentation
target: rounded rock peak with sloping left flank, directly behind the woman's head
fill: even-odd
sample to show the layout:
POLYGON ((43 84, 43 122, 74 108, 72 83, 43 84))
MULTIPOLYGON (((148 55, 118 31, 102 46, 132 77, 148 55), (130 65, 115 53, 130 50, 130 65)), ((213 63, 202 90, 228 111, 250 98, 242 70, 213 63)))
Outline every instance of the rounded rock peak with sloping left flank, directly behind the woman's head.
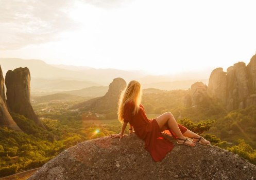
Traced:
POLYGON ((116 112, 118 98, 125 87, 126 82, 123 78, 114 78, 113 82, 109 85, 108 92, 104 96, 96 97, 89 101, 77 104, 73 108, 95 111, 97 113, 116 112))

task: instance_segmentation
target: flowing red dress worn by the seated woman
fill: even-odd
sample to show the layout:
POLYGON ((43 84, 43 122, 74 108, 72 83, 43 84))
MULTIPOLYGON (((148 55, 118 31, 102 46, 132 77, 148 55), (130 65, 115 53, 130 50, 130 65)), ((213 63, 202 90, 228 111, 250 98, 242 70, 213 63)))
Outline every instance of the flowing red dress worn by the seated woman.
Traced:
MULTIPOLYGON (((156 118, 147 118, 142 104, 140 104, 139 112, 135 115, 132 114, 133 109, 134 103, 132 101, 125 104, 124 122, 130 123, 136 135, 145 141, 145 149, 149 151, 153 160, 155 162, 161 161, 173 149, 173 143, 163 137, 156 118)), ((187 130, 181 125, 179 125, 179 128, 182 133, 187 130)), ((172 131, 170 133, 173 134, 172 131)))

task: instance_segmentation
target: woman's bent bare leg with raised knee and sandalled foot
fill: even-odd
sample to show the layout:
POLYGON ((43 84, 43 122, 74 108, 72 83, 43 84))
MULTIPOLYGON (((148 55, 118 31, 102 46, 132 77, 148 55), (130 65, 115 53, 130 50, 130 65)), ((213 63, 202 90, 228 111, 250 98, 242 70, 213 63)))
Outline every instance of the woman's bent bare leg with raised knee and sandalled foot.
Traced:
MULTIPOLYGON (((186 139, 186 137, 184 137, 184 135, 181 133, 181 131, 179 129, 179 126, 176 122, 176 119, 174 118, 172 113, 165 112, 162 115, 158 116, 156 121, 157 121, 158 126, 159 126, 160 129, 162 129, 164 127, 164 125, 166 124, 166 122, 167 122, 168 127, 173 130, 173 132, 177 135, 178 138, 186 139)), ((177 141, 179 143, 184 142, 184 141, 179 140, 179 139, 177 139, 177 141)), ((195 146, 195 144, 193 142, 190 142, 190 141, 186 141, 185 143, 188 144, 188 145, 191 145, 191 146, 195 146)))

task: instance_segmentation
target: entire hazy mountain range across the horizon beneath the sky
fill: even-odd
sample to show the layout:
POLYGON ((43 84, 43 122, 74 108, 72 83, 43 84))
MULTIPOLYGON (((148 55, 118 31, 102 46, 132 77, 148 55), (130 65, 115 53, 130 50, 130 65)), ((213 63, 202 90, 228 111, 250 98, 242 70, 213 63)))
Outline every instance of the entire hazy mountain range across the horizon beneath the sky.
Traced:
MULTIPOLYGON (((141 71, 118 69, 95 69, 87 66, 50 65, 38 59, 0 58, 3 75, 17 67, 27 67, 31 73, 31 94, 48 95, 92 87, 108 86, 116 77, 126 82, 139 81, 144 89, 188 89, 197 81, 207 83, 207 73, 184 73, 182 75, 150 75, 141 71)), ((74 94, 79 95, 79 94, 74 94)))

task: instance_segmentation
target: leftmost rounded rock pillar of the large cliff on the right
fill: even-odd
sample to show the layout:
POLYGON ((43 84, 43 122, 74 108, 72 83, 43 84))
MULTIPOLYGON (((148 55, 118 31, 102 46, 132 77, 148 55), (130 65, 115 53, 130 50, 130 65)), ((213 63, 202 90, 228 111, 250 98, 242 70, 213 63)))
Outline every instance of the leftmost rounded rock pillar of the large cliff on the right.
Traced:
POLYGON ((212 71, 207 92, 211 97, 219 99, 220 102, 226 105, 227 74, 223 71, 223 68, 217 68, 212 71))

